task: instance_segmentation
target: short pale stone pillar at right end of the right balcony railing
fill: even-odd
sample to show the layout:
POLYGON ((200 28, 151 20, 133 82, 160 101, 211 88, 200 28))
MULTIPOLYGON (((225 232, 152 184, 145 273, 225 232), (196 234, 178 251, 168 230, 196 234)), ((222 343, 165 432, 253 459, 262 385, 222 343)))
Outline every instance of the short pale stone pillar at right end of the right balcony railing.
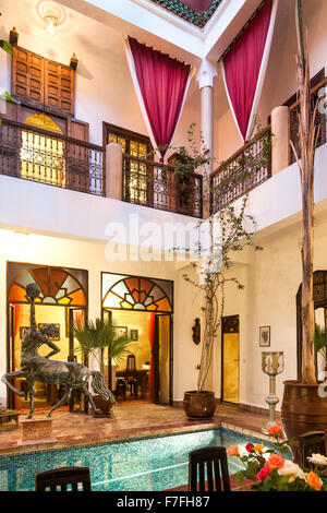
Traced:
POLYGON ((271 175, 289 166, 290 158, 290 121, 288 107, 275 107, 271 112, 272 162, 271 175))

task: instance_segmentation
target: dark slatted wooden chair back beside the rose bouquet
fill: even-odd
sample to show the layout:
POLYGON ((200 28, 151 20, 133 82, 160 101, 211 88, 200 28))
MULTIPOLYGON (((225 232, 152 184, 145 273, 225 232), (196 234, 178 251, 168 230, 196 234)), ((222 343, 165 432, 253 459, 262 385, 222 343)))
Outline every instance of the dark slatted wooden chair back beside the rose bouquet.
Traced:
POLYGON ((189 454, 189 491, 230 491, 226 448, 208 446, 189 454))

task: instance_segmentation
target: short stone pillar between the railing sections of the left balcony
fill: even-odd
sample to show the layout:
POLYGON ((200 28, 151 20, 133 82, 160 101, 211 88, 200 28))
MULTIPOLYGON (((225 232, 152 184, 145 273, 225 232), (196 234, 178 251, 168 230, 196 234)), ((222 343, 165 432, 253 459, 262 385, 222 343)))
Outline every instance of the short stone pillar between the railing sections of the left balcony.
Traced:
POLYGON ((106 146, 106 196, 122 200, 122 148, 120 144, 106 146))

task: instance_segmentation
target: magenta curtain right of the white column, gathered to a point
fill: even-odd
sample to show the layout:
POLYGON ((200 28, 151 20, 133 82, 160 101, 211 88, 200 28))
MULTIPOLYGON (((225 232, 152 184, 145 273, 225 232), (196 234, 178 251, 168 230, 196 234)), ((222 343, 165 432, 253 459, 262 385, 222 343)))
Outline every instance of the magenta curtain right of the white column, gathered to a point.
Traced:
POLYGON ((271 9, 272 0, 267 0, 223 58, 226 86, 244 141, 251 122, 271 9))

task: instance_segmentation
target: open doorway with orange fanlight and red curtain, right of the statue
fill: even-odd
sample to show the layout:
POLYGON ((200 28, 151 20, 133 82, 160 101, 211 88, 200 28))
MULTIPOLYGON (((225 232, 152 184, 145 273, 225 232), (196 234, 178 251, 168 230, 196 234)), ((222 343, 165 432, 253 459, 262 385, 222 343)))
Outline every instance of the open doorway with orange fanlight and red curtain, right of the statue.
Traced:
MULTIPOLYGON (((172 404, 172 312, 173 283, 143 276, 102 273, 102 315, 133 339, 141 397, 157 404, 172 404), (147 384, 145 389, 145 374, 147 384)), ((116 389, 117 378, 126 371, 124 361, 108 368, 108 381, 116 389)))

